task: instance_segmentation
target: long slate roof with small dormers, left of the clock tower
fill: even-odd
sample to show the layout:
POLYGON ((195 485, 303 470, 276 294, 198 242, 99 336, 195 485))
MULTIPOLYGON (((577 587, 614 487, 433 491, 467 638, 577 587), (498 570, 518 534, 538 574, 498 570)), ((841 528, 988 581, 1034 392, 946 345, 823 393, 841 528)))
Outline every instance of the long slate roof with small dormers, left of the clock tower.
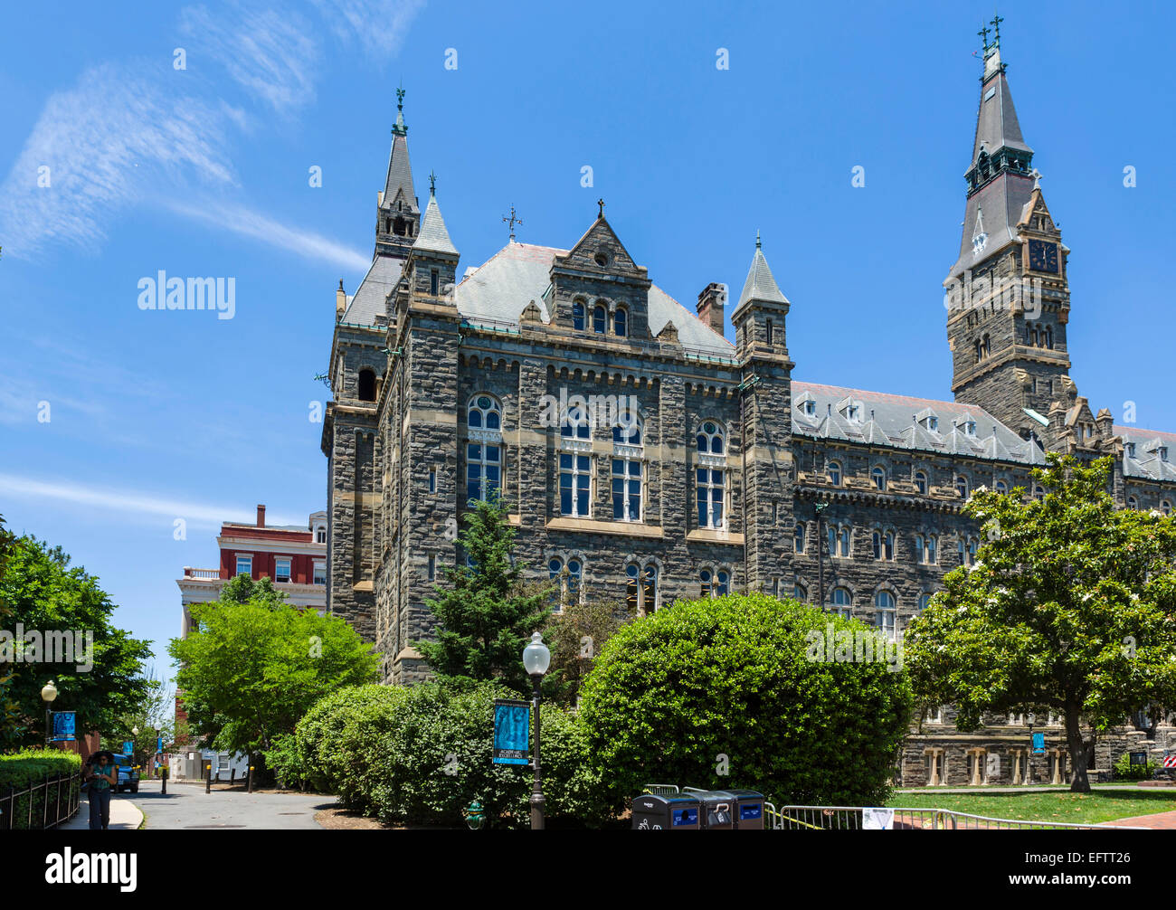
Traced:
POLYGON ((811 439, 893 446, 941 455, 1022 464, 1045 463, 1045 456, 1035 442, 1022 440, 987 410, 974 404, 796 380, 793 381, 793 431, 811 439), (806 401, 814 403, 811 416, 806 413, 806 401), (846 416, 847 404, 857 406, 858 420, 846 416), (929 415, 938 417, 935 430, 926 424, 929 415), (975 422, 975 436, 967 433, 968 422, 975 422))

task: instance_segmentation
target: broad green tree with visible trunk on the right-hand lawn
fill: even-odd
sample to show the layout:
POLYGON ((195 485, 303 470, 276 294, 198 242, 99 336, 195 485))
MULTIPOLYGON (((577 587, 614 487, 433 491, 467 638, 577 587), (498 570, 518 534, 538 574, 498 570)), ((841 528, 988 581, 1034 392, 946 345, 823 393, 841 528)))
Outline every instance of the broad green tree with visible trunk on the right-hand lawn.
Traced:
POLYGON ((911 622, 906 660, 924 705, 985 712, 1053 709, 1065 718, 1071 790, 1089 792, 1082 722, 1095 735, 1176 691, 1176 522, 1116 510, 1111 459, 1048 455, 1042 500, 977 490, 964 507, 987 542, 971 568, 911 622))

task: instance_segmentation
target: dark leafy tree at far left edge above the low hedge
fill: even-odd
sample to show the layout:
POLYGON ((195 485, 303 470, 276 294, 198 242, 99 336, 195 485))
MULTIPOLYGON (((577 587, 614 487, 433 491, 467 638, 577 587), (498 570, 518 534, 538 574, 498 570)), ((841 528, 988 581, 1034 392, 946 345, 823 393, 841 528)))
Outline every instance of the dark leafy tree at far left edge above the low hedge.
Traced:
POLYGON ((69 662, 46 661, 49 655, 45 648, 42 660, 13 664, 14 676, 6 687, 7 697, 18 705, 20 742, 45 742, 41 688, 49 680, 59 691, 53 709, 76 711, 79 734, 111 729, 142 698, 141 669, 151 656, 151 643, 132 638, 112 624, 114 604, 109 596, 95 576, 81 567, 71 567, 69 556, 60 547, 49 548, 32 536, 16 538, 0 577, 0 607, 8 614, 6 629, 14 633, 20 624, 25 630, 22 642, 0 644, 0 649, 20 653, 14 657, 32 655, 36 640, 31 633, 36 633, 42 643, 49 633, 68 633, 75 645, 76 634, 81 634, 82 651, 87 650, 87 636, 93 636, 93 667, 86 667, 87 655, 78 653, 69 662))

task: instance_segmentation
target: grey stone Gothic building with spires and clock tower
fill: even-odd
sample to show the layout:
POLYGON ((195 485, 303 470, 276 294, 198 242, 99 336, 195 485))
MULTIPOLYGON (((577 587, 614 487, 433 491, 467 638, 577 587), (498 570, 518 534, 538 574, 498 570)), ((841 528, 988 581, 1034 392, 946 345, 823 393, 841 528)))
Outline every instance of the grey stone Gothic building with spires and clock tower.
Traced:
MULTIPOLYGON (((563 597, 648 613, 795 594, 887 636, 975 558, 970 491, 1041 495, 1029 470, 1045 450, 1111 454, 1121 506, 1170 508, 1176 436, 1112 426, 1069 377, 1069 249, 998 40, 944 282, 953 401, 794 381, 790 303, 759 239, 734 306, 714 282, 694 313, 633 259, 603 202, 567 248, 512 237, 460 274, 432 188, 421 210, 399 100, 372 267, 353 296, 336 292, 322 434, 328 604, 376 643, 388 682, 426 675, 413 648, 430 633, 425 600, 462 558, 466 503, 492 491, 512 503, 516 555, 563 597)), ((962 735, 948 709, 911 736, 901 774, 1024 779, 1025 720, 962 735)))

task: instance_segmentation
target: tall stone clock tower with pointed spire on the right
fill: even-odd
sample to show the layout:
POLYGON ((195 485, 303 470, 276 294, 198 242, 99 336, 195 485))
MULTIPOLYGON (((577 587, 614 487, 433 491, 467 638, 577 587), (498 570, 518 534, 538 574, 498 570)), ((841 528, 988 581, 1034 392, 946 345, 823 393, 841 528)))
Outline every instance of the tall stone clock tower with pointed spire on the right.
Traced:
POLYGON ((1069 249, 1031 167, 1001 61, 1000 24, 981 29, 984 73, 960 257, 943 282, 951 390, 1023 439, 1048 439, 1048 415, 1074 394, 1065 324, 1069 249))

